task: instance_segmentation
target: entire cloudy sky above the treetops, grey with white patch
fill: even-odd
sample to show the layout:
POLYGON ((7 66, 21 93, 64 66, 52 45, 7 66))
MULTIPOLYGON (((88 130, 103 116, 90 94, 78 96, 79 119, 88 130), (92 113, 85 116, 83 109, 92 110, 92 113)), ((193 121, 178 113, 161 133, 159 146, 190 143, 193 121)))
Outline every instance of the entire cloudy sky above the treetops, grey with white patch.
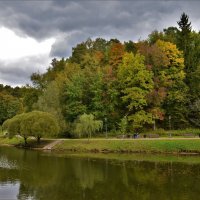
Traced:
POLYGON ((68 57, 87 39, 145 39, 153 30, 177 26, 182 12, 200 30, 198 0, 1 0, 0 84, 30 83, 54 57, 68 57))

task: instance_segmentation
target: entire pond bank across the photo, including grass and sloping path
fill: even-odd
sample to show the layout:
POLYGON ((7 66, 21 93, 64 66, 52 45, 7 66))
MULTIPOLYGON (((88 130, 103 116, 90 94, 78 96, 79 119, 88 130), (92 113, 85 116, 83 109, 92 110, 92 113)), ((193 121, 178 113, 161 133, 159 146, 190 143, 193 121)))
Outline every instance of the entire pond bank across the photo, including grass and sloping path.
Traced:
POLYGON ((200 155, 199 138, 157 138, 157 139, 51 139, 43 140, 40 146, 30 143, 24 147, 21 140, 0 138, 0 146, 12 146, 58 153, 103 153, 103 154, 165 154, 200 155), (47 142, 48 141, 48 142, 47 142))

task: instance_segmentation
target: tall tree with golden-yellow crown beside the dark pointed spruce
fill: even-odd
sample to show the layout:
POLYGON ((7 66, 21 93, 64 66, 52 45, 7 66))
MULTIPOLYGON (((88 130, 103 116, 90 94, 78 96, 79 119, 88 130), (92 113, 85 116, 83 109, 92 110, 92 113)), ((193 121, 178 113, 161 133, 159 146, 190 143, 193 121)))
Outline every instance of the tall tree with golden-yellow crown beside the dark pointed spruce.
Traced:
POLYGON ((173 116, 174 127, 183 126, 183 122, 187 124, 185 107, 188 103, 188 87, 184 82, 183 54, 176 48, 176 45, 170 42, 159 40, 156 45, 163 51, 169 61, 165 68, 161 68, 161 75, 158 75, 158 78, 164 81, 163 86, 167 91, 162 107, 166 115, 173 116))

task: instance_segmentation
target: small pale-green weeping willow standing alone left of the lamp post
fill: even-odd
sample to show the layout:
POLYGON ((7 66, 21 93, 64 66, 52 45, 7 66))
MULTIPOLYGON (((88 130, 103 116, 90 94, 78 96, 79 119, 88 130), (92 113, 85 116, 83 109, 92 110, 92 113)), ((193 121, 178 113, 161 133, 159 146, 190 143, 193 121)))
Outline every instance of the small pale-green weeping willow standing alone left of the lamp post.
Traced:
POLYGON ((96 131, 99 131, 103 127, 103 122, 101 120, 95 120, 93 114, 83 114, 79 116, 75 124, 75 133, 80 136, 88 136, 91 138, 91 135, 96 131))

